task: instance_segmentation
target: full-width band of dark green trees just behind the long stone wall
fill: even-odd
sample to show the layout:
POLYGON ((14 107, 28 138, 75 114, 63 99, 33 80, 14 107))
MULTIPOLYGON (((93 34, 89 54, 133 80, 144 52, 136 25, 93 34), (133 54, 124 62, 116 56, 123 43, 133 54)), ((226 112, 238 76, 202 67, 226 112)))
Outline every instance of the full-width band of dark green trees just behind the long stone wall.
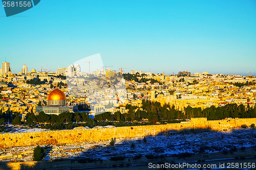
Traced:
MULTIPOLYGON (((86 106, 81 106, 86 109, 86 106)), ((192 108, 190 106, 184 108, 183 111, 175 109, 174 105, 159 102, 142 101, 142 107, 137 108, 132 105, 125 106, 127 112, 115 113, 105 112, 95 115, 94 119, 89 117, 86 112, 63 112, 59 115, 46 114, 39 112, 38 115, 28 113, 25 121, 22 122, 18 113, 12 114, 10 109, 3 112, 0 110, 0 124, 6 124, 8 121, 13 125, 40 125, 46 129, 73 129, 78 126, 138 126, 138 125, 154 125, 157 122, 161 124, 179 123, 184 119, 191 117, 207 117, 208 120, 219 120, 226 117, 231 118, 253 118, 256 117, 256 107, 250 108, 244 105, 227 104, 221 107, 211 106, 209 108, 192 108)))

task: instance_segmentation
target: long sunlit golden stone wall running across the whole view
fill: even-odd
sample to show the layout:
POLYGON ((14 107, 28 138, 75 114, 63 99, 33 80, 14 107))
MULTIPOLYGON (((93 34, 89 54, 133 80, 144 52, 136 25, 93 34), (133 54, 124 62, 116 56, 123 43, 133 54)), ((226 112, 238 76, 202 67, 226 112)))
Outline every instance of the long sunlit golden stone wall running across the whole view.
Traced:
POLYGON ((116 128, 59 130, 27 133, 0 134, 0 148, 19 147, 37 144, 81 143, 87 141, 110 140, 112 138, 143 137, 157 135, 169 130, 211 128, 226 130, 240 128, 241 125, 256 125, 256 118, 236 118, 224 120, 207 120, 206 118, 191 118, 191 122, 167 125, 129 126, 116 128))

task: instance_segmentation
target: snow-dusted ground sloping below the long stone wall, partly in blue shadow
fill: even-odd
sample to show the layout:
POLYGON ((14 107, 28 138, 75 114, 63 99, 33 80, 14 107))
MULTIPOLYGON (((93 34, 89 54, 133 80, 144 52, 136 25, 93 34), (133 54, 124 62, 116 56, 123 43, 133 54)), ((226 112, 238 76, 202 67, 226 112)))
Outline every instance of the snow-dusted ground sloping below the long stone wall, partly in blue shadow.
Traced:
MULTIPOLYGON (((22 130, 22 129, 20 129, 22 130)), ((27 129, 26 129, 27 130, 27 129)), ((33 130, 33 129, 28 129, 33 130)), ((38 130, 38 129, 35 129, 38 130)), ((23 131, 24 132, 24 131, 23 131)), ((218 153, 234 148, 256 147, 255 129, 236 129, 228 132, 200 132, 183 134, 172 132, 172 135, 147 136, 116 139, 110 146, 110 140, 83 142, 74 144, 56 144, 47 149, 46 160, 60 158, 111 159, 112 157, 134 158, 144 156, 173 156, 179 154, 218 153)), ((32 160, 33 147, 15 147, 0 150, 2 155, 18 155, 28 152, 22 158, 6 158, 5 161, 32 160)))

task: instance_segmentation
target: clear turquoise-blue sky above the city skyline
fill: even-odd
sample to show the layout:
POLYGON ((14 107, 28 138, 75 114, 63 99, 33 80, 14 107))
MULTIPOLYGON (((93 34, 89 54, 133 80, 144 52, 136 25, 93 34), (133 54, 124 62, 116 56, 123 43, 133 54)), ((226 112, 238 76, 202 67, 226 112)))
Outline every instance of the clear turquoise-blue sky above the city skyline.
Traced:
POLYGON ((256 1, 52 1, 6 17, 0 62, 56 70, 100 53, 111 69, 256 75, 256 1))

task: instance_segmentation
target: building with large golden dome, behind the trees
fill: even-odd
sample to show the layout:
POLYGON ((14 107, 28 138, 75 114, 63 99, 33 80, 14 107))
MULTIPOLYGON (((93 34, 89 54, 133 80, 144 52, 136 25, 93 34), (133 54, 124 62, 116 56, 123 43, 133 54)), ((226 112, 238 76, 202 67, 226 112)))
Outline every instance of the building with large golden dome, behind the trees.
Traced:
POLYGON ((36 112, 59 114, 62 112, 77 112, 77 106, 67 106, 66 95, 59 89, 52 90, 48 95, 47 106, 36 106, 36 112))

